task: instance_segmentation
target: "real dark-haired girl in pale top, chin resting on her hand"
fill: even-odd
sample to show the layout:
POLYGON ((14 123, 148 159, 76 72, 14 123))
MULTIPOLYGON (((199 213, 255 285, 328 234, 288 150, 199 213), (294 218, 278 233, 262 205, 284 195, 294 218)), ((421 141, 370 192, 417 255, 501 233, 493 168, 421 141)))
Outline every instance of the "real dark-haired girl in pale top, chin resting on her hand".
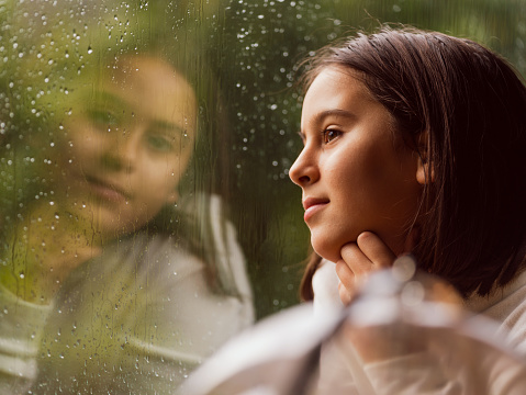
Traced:
POLYGON ((388 27, 307 66, 290 177, 315 251, 302 295, 318 314, 259 323, 182 393, 524 394, 510 349, 526 352, 518 75, 471 41, 388 27))

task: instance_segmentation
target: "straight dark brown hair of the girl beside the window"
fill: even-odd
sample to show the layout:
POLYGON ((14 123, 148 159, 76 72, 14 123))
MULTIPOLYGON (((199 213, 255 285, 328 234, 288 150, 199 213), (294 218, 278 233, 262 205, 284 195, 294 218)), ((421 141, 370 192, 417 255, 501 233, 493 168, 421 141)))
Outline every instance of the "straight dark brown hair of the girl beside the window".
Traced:
MULTIPOLYGON (((433 169, 412 251, 422 270, 468 296, 524 269, 526 88, 507 61, 470 40, 382 27, 322 48, 306 65, 306 88, 325 67, 358 71, 433 169)), ((318 262, 305 271, 303 298, 312 298, 318 262)))

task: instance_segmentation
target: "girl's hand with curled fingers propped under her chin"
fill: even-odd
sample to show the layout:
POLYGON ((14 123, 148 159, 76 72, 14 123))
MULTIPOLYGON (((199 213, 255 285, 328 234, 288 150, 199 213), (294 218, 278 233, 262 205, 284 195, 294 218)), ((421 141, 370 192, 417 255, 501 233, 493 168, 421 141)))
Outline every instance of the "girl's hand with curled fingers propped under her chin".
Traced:
POLYGON ((339 298, 346 305, 355 298, 358 289, 371 272, 390 268, 396 258, 371 232, 363 232, 356 242, 346 244, 340 255, 342 259, 336 262, 336 274, 339 278, 339 298))

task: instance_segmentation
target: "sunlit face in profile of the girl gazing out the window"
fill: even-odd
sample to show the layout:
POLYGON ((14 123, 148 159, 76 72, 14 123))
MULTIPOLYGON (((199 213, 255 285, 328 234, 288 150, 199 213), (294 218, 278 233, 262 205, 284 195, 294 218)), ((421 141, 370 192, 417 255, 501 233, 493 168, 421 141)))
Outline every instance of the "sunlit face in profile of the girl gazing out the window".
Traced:
POLYGON ((309 88, 301 129, 304 148, 290 178, 302 188, 314 250, 335 262, 344 245, 369 230, 403 252, 422 185, 418 156, 393 116, 352 71, 334 66, 309 88))

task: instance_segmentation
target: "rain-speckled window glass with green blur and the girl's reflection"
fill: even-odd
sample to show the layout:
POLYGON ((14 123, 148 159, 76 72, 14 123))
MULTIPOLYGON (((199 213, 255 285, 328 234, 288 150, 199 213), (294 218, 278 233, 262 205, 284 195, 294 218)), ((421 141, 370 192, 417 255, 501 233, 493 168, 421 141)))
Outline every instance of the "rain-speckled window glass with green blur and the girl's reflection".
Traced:
POLYGON ((0 2, 0 392, 168 393, 300 302, 299 60, 384 22, 526 72, 521 0, 0 2))

